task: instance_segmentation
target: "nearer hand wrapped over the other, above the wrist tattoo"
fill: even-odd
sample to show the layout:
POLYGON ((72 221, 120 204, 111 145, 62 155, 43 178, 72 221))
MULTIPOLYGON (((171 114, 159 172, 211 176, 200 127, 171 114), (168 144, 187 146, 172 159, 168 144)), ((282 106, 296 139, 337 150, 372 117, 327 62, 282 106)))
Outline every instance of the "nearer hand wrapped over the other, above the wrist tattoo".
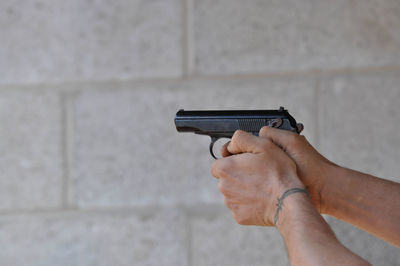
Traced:
POLYGON ((304 188, 296 164, 269 138, 240 130, 224 148, 233 155, 216 160, 211 172, 225 205, 239 224, 272 226, 277 199, 290 188, 304 188))

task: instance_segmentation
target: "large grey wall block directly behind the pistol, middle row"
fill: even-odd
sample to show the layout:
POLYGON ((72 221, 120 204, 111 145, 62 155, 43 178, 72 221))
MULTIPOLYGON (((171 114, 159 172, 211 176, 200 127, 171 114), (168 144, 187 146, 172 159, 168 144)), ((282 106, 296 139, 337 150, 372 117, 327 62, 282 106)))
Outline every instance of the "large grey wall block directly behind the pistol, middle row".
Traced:
POLYGON ((179 134, 185 109, 276 109, 314 139, 313 81, 258 79, 87 90, 74 103, 71 202, 79 206, 222 202, 210 174, 210 139, 179 134))

